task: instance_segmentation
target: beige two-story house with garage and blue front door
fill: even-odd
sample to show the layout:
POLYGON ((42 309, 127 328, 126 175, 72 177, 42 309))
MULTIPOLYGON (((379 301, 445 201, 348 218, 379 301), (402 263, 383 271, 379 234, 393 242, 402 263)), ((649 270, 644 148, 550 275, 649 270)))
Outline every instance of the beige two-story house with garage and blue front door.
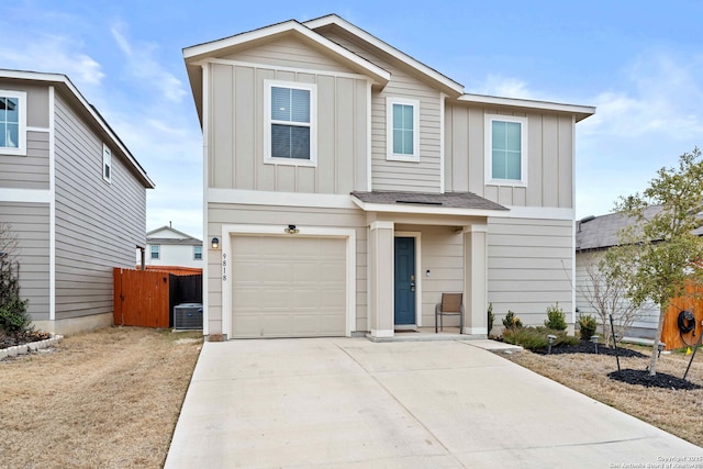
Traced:
POLYGON ((434 326, 442 292, 478 337, 489 302, 526 324, 573 311, 574 127, 594 108, 467 94, 337 15, 183 56, 205 334, 392 337, 434 326))

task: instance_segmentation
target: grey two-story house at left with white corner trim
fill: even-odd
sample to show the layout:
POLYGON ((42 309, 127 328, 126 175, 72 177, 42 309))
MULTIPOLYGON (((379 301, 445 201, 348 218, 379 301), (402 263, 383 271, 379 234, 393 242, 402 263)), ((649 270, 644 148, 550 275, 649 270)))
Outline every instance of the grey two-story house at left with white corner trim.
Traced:
POLYGON ((112 324, 112 268, 134 268, 153 187, 66 76, 0 70, 0 220, 35 327, 112 324))

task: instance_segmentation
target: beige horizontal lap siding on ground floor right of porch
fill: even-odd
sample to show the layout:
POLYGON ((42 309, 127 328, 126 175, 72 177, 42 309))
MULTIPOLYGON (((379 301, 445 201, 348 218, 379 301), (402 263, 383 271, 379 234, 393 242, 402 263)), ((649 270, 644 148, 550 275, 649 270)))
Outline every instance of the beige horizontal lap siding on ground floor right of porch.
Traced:
POLYGON ((571 321, 572 227, 570 220, 489 219, 488 301, 495 325, 509 310, 524 325, 542 325, 556 302, 571 321))

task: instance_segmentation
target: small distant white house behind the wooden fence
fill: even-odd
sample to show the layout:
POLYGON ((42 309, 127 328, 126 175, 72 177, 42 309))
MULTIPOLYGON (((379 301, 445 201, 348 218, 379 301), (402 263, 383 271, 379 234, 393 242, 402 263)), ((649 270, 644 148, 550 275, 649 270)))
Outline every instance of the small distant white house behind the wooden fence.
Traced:
POLYGON ((146 234, 144 264, 202 268, 202 241, 170 226, 153 230, 146 234))

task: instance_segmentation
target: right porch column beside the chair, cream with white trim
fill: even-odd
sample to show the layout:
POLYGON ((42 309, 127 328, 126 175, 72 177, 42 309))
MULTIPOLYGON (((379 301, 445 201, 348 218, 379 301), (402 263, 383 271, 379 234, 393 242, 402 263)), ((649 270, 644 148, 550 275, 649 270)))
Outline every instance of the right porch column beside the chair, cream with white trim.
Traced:
POLYGON ((464 334, 488 336, 488 225, 464 228, 464 334))

